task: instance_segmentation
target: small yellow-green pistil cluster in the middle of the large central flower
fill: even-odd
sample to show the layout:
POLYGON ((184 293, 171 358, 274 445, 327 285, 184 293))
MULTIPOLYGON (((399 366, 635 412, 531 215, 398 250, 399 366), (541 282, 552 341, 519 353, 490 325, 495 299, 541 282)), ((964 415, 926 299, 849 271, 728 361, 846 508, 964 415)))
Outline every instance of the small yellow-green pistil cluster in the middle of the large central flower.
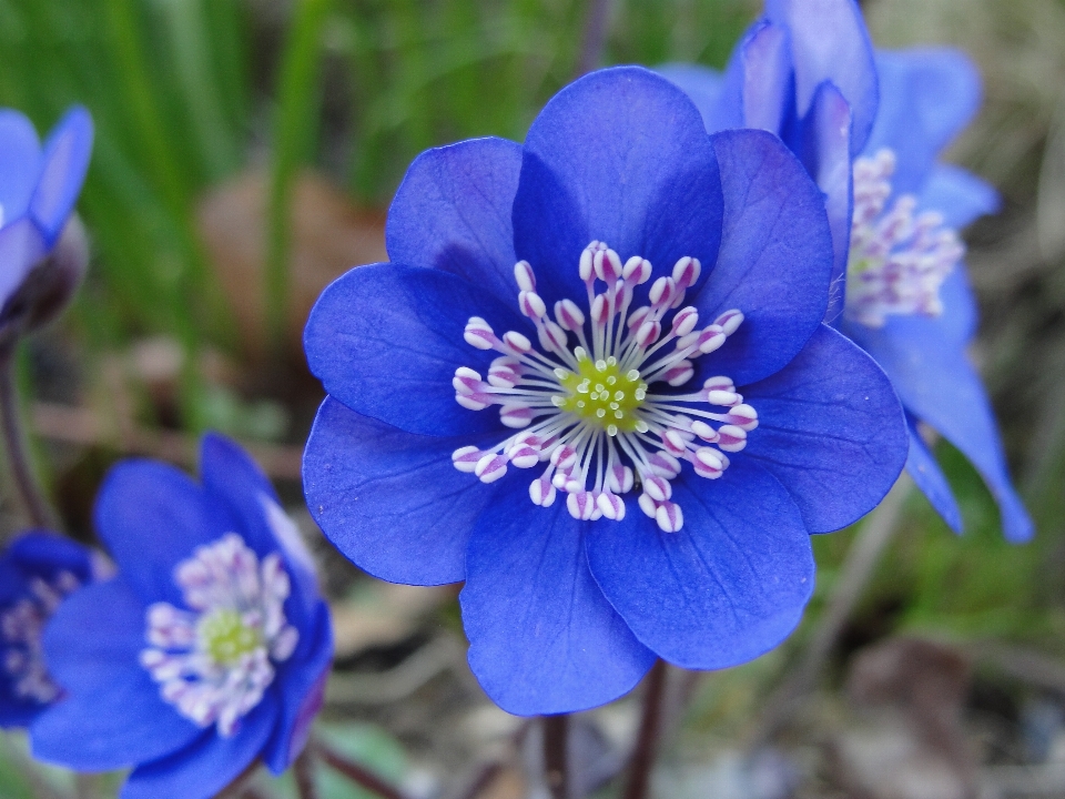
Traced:
POLYGON ((598 423, 611 436, 637 428, 636 411, 647 396, 647 383, 637 370, 622 373, 613 356, 592 361, 585 355, 577 361, 577 372, 556 370, 556 374, 566 392, 556 403, 559 408, 598 423))

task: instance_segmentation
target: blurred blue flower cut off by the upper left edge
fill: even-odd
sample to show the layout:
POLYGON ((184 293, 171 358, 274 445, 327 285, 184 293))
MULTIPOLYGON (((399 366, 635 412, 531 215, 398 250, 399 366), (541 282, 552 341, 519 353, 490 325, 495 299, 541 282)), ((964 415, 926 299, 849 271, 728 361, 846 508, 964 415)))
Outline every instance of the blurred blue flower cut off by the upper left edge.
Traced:
POLYGON ((80 271, 67 274, 64 263, 59 274, 30 286, 34 296, 19 296, 67 230, 89 168, 92 135, 92 118, 81 107, 67 112, 43 146, 23 114, 0 109, 0 326, 22 313, 41 314, 41 309, 22 307, 27 304, 43 302, 51 310, 65 301, 53 295, 69 294, 80 281, 80 271))

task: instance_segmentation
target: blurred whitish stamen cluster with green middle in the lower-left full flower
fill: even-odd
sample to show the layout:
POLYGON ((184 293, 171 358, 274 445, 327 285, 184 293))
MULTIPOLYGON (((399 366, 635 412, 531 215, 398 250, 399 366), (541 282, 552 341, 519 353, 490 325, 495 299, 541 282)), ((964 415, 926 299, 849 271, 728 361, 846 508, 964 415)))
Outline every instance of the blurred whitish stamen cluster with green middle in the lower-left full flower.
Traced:
POLYGON ((260 563, 243 538, 227 533, 180 563, 174 581, 190 610, 149 607, 141 665, 178 712, 230 737, 300 639, 284 614, 288 574, 277 553, 260 563))

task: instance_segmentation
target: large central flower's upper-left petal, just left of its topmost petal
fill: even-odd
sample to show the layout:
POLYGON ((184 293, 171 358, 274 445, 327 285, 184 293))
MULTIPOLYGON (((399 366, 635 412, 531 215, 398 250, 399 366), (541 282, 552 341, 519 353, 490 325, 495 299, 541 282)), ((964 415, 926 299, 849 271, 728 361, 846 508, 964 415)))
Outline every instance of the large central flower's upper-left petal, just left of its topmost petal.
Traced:
POLYGON ((388 209, 388 257, 449 272, 514 303, 510 214, 520 171, 521 145, 506 139, 422 153, 388 209))

